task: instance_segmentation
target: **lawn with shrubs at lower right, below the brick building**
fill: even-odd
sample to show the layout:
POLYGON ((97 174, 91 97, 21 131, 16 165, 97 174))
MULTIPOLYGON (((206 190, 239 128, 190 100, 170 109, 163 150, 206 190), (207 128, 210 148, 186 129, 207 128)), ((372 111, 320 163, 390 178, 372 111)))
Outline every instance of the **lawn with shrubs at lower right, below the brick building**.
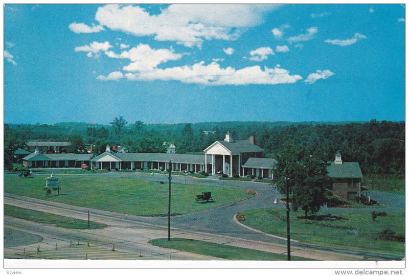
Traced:
MULTIPOLYGON (((373 221, 371 212, 329 211, 331 216, 342 219, 308 220, 304 219, 302 210, 291 211, 291 238, 309 244, 404 256, 405 243, 379 239, 379 233, 385 229, 392 229, 397 235, 404 235, 403 212, 387 212, 387 216, 373 221), (353 235, 356 231, 359 235, 353 235)), ((323 214, 325 212, 320 211, 319 215, 323 214)), ((242 223, 250 227, 280 237, 287 235, 285 210, 269 209, 263 212, 262 209, 256 209, 245 211, 244 215, 245 221, 242 223)))

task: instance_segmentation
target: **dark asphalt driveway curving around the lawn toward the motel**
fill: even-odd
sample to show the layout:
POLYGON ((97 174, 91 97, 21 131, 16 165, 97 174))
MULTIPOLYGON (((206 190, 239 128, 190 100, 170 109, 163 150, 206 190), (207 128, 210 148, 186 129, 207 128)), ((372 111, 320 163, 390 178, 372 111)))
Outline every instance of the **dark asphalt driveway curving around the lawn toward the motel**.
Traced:
MULTIPOLYGON (((155 174, 151 175, 148 173, 108 173, 108 174, 86 174, 83 176, 89 177, 134 177, 134 178, 141 178, 141 179, 149 179, 154 181, 166 181, 167 178, 163 174, 155 174)), ((15 177, 15 176, 14 176, 15 177)), ((37 175, 36 177, 44 177, 44 175, 37 175)), ((237 223, 234 222, 233 217, 235 214, 241 211, 249 210, 249 209, 262 209, 262 208, 284 208, 284 205, 279 204, 276 205, 273 203, 275 198, 280 197, 280 194, 277 190, 272 189, 271 185, 267 183, 261 182, 253 182, 253 181, 234 181, 234 180, 210 180, 210 179, 196 179, 192 177, 185 177, 185 176, 178 176, 172 175, 173 182, 179 183, 186 183, 191 185, 211 185, 211 186, 219 186, 219 187, 232 187, 238 189, 253 189, 257 191, 257 195, 243 200, 228 206, 222 206, 220 208, 214 208, 207 211, 202 211, 193 214, 181 215, 181 216, 174 216, 171 218, 171 225, 172 227, 186 229, 189 231, 199 231, 211 234, 218 234, 223 236, 235 237, 245 240, 255 240, 260 242, 269 242, 274 244, 286 244, 285 240, 270 237, 267 235, 263 235, 249 229, 246 229, 237 223)), ((217 198, 217 195, 215 195, 217 198)), ((382 208, 380 210, 383 211, 401 211, 404 210, 404 196, 390 194, 390 193, 383 193, 383 192, 376 192, 371 191, 371 197, 375 200, 387 204, 387 208, 382 208)), ((372 212, 376 209, 343 209, 343 211, 359 211, 359 212, 372 212)), ((86 210, 84 209, 86 212, 86 210)), ((94 210, 93 212, 103 212, 99 210, 94 210)), ((117 216, 115 213, 111 214, 112 216, 117 216)), ((154 225, 167 225, 167 218, 157 218, 157 217, 134 217, 128 215, 120 215, 121 217, 125 217, 127 219, 131 219, 138 222, 145 222, 154 225)), ((329 247, 323 246, 313 246, 313 245, 305 245, 301 243, 293 243, 294 245, 303 246, 304 248, 311 248, 311 249, 325 249, 325 250, 333 250, 335 252, 342 252, 342 253, 353 253, 358 254, 361 256, 366 257, 376 257, 376 258, 384 258, 384 259, 394 259, 396 256, 390 255, 382 255, 382 254, 369 254, 368 252, 360 252, 360 251, 351 251, 351 250, 339 250, 339 249, 332 249, 329 247)))

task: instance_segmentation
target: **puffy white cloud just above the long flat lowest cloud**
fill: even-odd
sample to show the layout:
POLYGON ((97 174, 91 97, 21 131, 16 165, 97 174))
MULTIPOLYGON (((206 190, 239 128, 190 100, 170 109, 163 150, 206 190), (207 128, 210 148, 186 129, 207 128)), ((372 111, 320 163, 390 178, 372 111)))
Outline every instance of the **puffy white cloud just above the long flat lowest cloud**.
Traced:
POLYGON ((149 45, 140 43, 138 47, 133 47, 129 51, 123 51, 116 54, 113 51, 106 51, 105 54, 110 58, 122 58, 132 61, 129 65, 124 66, 125 71, 142 71, 151 70, 161 63, 169 60, 178 60, 183 55, 175 54, 171 49, 151 49, 149 45))

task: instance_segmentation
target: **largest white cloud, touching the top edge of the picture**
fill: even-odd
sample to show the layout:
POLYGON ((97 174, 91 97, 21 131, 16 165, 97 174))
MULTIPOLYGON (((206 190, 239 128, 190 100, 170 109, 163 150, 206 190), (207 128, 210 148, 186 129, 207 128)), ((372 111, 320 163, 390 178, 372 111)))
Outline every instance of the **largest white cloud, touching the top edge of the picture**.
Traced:
POLYGON ((105 5, 95 19, 100 25, 158 41, 176 41, 201 48, 204 40, 235 40, 245 28, 264 22, 279 5, 171 5, 151 15, 132 5, 105 5), (239 29, 238 29, 239 28, 239 29))

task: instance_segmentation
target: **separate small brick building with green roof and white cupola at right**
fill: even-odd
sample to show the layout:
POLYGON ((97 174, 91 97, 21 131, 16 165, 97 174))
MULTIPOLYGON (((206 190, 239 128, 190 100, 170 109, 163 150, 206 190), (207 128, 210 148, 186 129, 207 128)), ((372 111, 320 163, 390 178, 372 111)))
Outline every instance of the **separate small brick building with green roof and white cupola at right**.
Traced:
POLYGON ((355 199, 361 194, 362 172, 358 162, 343 162, 339 151, 327 167, 333 179, 332 193, 344 199, 355 199))

